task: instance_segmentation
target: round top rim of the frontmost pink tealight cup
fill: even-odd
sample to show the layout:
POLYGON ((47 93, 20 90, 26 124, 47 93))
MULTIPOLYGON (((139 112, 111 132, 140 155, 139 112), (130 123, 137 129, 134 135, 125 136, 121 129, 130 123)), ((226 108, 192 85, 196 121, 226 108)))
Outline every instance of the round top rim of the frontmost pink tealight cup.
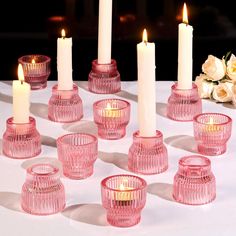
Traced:
POLYGON ((147 182, 144 179, 142 179, 138 176, 135 176, 135 175, 121 174, 121 175, 111 175, 111 176, 106 177, 105 179, 102 180, 101 185, 104 189, 108 189, 108 190, 111 190, 111 191, 114 191, 114 192, 135 192, 137 190, 145 189, 147 187, 147 182), (135 178, 138 181, 140 181, 140 185, 138 187, 134 188, 134 189, 120 190, 120 189, 117 189, 117 188, 111 188, 107 185, 107 182, 110 179, 113 179, 113 178, 135 178))

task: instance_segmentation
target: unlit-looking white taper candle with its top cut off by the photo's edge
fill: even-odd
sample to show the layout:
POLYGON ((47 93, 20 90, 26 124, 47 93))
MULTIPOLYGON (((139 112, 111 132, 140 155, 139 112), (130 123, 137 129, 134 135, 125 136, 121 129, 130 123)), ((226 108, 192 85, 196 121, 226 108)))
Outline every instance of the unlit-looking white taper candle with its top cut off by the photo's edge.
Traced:
POLYGON ((98 64, 111 63, 112 0, 99 1, 98 64))

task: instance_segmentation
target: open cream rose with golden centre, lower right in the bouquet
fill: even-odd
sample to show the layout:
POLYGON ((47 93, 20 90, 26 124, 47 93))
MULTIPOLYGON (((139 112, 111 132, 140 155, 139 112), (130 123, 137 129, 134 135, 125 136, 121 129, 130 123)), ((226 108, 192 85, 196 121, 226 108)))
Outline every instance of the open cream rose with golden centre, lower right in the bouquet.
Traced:
POLYGON ((215 85, 212 97, 218 102, 231 102, 233 97, 233 83, 225 82, 215 85))

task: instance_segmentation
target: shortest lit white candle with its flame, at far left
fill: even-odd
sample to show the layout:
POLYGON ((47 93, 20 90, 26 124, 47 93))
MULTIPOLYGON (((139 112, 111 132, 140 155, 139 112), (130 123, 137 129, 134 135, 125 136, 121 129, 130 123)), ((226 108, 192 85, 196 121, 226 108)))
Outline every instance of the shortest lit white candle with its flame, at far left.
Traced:
POLYGON ((18 80, 13 81, 12 90, 14 123, 29 123, 30 85, 24 82, 24 72, 21 64, 18 66, 18 80))

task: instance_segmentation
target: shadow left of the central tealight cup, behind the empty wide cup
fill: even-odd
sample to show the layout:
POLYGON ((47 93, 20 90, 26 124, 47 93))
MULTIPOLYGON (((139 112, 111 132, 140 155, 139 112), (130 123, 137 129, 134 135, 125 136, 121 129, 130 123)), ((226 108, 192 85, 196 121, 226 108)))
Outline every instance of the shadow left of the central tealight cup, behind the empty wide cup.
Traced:
POLYGON ((73 133, 88 133, 97 136, 97 125, 93 121, 81 120, 70 124, 64 124, 62 128, 73 133))

